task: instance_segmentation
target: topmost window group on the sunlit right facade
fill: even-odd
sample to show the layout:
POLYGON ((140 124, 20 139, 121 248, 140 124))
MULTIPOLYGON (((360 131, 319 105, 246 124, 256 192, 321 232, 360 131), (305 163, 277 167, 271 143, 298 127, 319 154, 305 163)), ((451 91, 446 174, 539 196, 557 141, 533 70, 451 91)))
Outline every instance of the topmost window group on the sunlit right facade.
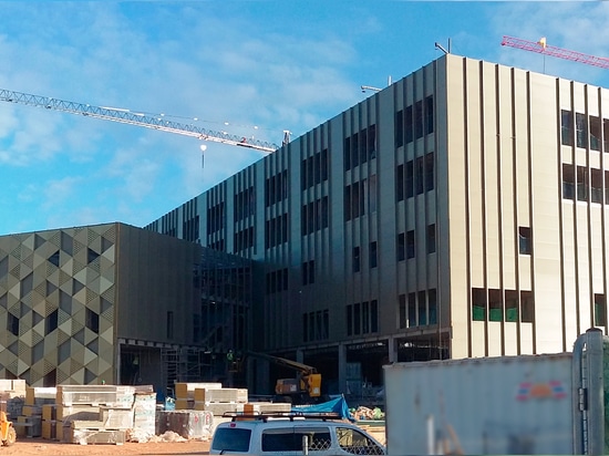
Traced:
POLYGON ((605 152, 609 152, 609 118, 587 116, 584 113, 560 111, 560 141, 565 146, 572 146, 574 138, 577 147, 591 151, 601 151, 605 138, 605 152), (575 133, 575 135, 574 135, 575 133))

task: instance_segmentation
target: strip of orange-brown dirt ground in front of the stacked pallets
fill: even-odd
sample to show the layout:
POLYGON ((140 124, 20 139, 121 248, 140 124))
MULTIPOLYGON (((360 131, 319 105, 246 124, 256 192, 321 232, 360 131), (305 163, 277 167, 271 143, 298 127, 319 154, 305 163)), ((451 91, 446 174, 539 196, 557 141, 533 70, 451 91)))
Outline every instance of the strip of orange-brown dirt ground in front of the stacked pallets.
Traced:
POLYGON ((155 455, 208 455, 209 442, 147 442, 123 445, 65 444, 44 438, 18 438, 14 445, 0 446, 0 456, 155 456, 155 455))

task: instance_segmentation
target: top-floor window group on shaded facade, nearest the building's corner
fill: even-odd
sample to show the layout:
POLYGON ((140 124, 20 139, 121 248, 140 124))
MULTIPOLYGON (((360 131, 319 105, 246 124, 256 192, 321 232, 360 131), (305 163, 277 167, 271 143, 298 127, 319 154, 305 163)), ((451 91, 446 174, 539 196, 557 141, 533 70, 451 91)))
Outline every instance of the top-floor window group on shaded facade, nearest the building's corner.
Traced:
POLYGON ((433 95, 395 113, 395 147, 412 143, 434 131, 433 95))

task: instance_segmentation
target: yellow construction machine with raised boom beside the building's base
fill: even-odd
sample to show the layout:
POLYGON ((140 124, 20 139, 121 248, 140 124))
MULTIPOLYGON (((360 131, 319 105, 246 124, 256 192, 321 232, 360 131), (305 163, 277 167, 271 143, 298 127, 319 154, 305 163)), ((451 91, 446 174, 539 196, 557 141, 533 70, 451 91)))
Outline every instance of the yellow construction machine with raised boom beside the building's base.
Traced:
POLYGON ((292 403, 314 402, 321 397, 321 374, 317 372, 316 367, 266 353, 248 352, 247 355, 296 371, 293 379, 277 380, 275 384, 277 396, 292 403))

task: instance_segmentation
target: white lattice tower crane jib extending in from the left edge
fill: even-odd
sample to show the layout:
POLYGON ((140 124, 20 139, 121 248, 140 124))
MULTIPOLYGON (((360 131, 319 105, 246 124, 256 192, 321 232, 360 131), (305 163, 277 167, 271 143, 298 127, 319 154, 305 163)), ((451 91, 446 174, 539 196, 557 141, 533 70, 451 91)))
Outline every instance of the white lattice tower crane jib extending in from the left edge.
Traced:
MULTIPOLYGON (((209 131, 196 125, 173 122, 166 120, 163 114, 159 116, 153 116, 121 107, 92 106, 90 104, 69 102, 41 95, 32 95, 29 93, 14 92, 6 89, 0 89, 0 101, 61 111, 64 113, 84 115, 93 118, 102 118, 104 121, 118 122, 122 124, 137 125, 145 128, 159 129, 162 132, 196 137, 203 141, 248 147, 266 153, 272 153, 280 148, 280 146, 265 141, 246 138, 244 136, 231 135, 226 132, 209 131)), ((288 144, 289 141, 290 133, 285 131, 282 145, 288 144)))

